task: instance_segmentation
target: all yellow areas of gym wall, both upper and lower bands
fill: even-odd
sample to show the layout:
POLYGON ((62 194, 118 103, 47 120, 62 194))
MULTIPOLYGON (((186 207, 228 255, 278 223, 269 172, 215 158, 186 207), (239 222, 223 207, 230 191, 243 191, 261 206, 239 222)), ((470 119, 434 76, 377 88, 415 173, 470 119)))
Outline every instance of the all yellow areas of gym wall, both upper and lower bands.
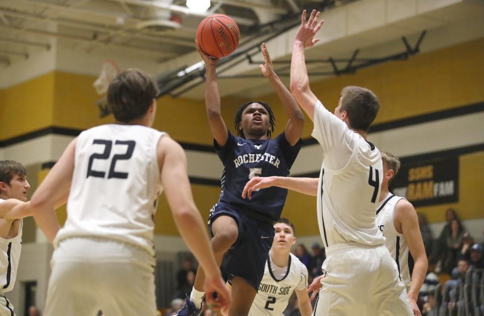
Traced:
MULTIPOLYGON (((382 102, 376 119, 380 123, 484 101, 482 55, 484 38, 415 55, 405 61, 386 62, 354 75, 314 82, 311 88, 331 110, 337 105, 344 86, 372 89, 382 102)), ((112 116, 98 118, 98 109, 94 105, 98 96, 92 88, 94 80, 90 76, 56 71, 5 89, 0 94, 0 140, 51 125, 87 129, 112 121, 112 116)), ((280 133, 287 117, 277 96, 272 93, 258 99, 273 105, 278 118, 275 133, 280 133)), ((234 111, 244 101, 240 98, 222 99, 222 114, 232 131, 234 111)), ((157 103, 154 128, 168 132, 177 141, 212 144, 203 100, 165 96, 157 103)), ((310 137, 312 126, 307 118, 303 138, 310 137)), ((478 209, 484 205, 484 195, 478 192, 478 185, 473 185, 482 183, 484 172, 475 169, 482 169, 482 166, 482 153, 464 155, 460 159, 460 202, 452 206, 459 210, 462 218, 484 217, 478 209)), ((219 187, 194 184, 192 189, 197 206, 206 217, 217 201, 219 187)), ((315 198, 289 193, 283 216, 294 221, 300 235, 317 234, 315 205, 315 198), (303 215, 305 213, 308 215, 303 215)), ((419 208, 419 211, 424 212, 430 222, 442 221, 447 206, 419 208)), ((164 199, 160 201, 156 222, 156 233, 177 234, 164 199)))

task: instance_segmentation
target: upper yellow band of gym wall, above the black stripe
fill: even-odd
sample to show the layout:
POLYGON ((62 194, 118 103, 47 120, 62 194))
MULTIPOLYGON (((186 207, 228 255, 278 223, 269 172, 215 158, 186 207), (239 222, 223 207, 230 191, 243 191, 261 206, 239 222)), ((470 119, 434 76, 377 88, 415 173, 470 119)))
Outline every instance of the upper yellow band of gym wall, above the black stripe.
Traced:
MULTIPOLYGON (((482 55, 484 38, 315 82, 311 88, 332 110, 343 87, 368 87, 380 97, 382 107, 375 122, 381 123, 483 101, 484 64, 479 60, 482 55)), ((94 80, 91 76, 55 71, 3 90, 0 140, 51 125, 87 129, 112 121, 112 116, 98 118, 94 80)), ((280 133, 287 117, 277 96, 272 93, 258 99, 273 105, 278 118, 275 132, 280 133)), ((233 113, 244 101, 222 99, 222 115, 231 130, 233 113)), ((203 100, 165 96, 157 103, 155 128, 167 131, 178 141, 212 143, 203 100)), ((312 123, 307 119, 303 137, 310 137, 311 131, 312 123)))

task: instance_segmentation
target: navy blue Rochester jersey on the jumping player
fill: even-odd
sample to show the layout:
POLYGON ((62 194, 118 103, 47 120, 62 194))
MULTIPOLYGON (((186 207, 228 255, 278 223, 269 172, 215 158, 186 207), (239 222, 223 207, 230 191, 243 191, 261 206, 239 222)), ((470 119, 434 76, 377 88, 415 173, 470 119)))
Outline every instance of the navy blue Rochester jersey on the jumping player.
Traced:
POLYGON ((222 192, 219 202, 278 220, 286 201, 287 189, 269 187, 252 193, 252 199, 242 198, 244 186, 253 176, 288 176, 301 149, 302 140, 291 146, 284 135, 275 139, 246 140, 228 132, 224 147, 214 147, 223 163, 222 192))

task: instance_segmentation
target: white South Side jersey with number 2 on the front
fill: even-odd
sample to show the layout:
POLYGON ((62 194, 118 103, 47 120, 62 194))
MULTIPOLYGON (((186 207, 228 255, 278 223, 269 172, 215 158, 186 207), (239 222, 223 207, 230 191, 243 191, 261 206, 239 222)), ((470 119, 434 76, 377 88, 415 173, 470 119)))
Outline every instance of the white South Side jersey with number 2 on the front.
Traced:
POLYGON ((271 256, 267 257, 264 277, 252 303, 249 316, 282 315, 294 290, 308 286, 308 269, 296 256, 289 254, 289 264, 284 276, 274 276, 271 256))

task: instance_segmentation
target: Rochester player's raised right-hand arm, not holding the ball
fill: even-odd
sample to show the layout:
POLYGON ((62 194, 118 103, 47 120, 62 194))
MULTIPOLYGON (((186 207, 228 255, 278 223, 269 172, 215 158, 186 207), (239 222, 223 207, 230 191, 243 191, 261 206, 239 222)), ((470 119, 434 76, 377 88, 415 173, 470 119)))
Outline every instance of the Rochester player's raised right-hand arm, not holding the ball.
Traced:
POLYGON ((269 51, 266 48, 266 43, 262 43, 262 55, 264 56, 264 65, 260 65, 262 75, 269 79, 272 88, 276 92, 279 100, 281 100, 284 110, 289 116, 286 127, 284 129, 284 135, 287 142, 294 146, 300 139, 302 134, 302 128, 304 127, 304 115, 302 115, 299 105, 297 105, 296 100, 289 92, 289 90, 284 86, 279 76, 274 72, 274 67, 272 66, 272 59, 269 55, 269 51))

